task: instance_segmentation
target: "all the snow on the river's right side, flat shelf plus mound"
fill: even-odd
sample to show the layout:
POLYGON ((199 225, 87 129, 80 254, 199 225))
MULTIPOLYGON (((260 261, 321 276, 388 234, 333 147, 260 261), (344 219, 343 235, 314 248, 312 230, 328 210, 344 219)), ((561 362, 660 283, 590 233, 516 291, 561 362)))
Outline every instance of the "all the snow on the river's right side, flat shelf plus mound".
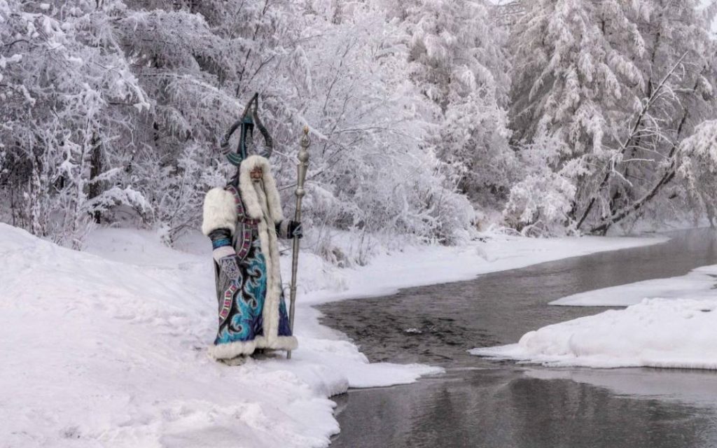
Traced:
POLYGON ((717 265, 688 275, 563 297, 552 305, 627 306, 548 325, 480 356, 551 366, 717 369, 717 265), (628 306, 630 305, 630 306, 628 306))

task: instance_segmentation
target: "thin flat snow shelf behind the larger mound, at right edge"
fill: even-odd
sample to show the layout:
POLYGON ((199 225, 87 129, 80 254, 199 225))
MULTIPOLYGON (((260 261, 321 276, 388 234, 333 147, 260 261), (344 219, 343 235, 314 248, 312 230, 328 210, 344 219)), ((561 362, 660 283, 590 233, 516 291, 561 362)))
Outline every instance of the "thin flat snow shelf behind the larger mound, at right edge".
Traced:
POLYGON ((717 264, 698 267, 688 275, 607 287, 581 292, 550 302, 550 305, 567 306, 629 306, 642 299, 661 297, 665 299, 691 297, 693 299, 717 298, 717 264))

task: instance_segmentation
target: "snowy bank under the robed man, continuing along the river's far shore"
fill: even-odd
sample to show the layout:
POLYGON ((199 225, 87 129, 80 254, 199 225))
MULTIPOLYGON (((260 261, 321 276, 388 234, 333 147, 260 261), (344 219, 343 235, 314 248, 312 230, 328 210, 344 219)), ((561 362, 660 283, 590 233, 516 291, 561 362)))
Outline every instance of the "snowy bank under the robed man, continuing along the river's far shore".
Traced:
POLYGON ((0 446, 326 447, 339 430, 329 396, 440 369, 369 364, 311 304, 655 242, 493 235, 348 270, 302 254, 293 359, 229 367, 206 356, 216 305, 203 237, 178 251, 103 229, 74 252, 0 224, 0 446))

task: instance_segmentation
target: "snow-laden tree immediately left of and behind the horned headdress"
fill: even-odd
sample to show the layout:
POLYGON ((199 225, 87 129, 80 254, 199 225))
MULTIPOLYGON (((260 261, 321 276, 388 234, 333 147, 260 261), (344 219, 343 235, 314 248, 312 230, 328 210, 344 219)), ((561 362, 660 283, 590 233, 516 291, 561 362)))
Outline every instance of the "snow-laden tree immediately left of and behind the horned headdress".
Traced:
POLYGON ((137 1, 105 9, 108 39, 123 48, 151 98, 151 113, 126 137, 133 149, 124 176, 146 191, 152 224, 172 242, 198 225, 204 192, 224 183, 218 140, 241 113, 244 73, 255 70, 264 49, 252 37, 279 33, 280 24, 270 17, 270 29, 260 29, 270 11, 253 2, 137 1))

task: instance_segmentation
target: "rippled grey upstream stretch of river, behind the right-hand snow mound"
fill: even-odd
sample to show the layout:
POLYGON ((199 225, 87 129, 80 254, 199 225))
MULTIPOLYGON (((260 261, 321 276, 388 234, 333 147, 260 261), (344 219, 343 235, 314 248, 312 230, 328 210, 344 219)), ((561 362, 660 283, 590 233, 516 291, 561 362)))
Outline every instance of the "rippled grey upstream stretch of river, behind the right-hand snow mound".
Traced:
POLYGON ((670 237, 665 244, 409 288, 391 297, 328 303, 319 308, 322 323, 353 338, 371 361, 475 366, 470 348, 514 343, 529 330, 604 310, 546 306, 552 300, 717 263, 717 232, 670 237), (407 333, 414 328, 419 333, 407 333))

